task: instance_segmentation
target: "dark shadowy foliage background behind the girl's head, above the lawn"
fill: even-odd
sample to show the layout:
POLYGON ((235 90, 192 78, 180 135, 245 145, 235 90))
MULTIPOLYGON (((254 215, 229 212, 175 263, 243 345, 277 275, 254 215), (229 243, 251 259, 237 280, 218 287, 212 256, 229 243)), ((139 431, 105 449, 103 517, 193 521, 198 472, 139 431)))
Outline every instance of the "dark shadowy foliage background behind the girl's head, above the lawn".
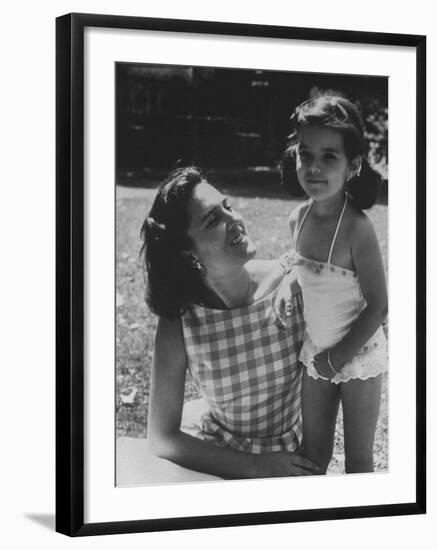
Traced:
POLYGON ((117 64, 117 172, 165 172, 176 163, 244 169, 278 165, 299 103, 321 90, 353 99, 371 164, 386 177, 385 77, 117 64))

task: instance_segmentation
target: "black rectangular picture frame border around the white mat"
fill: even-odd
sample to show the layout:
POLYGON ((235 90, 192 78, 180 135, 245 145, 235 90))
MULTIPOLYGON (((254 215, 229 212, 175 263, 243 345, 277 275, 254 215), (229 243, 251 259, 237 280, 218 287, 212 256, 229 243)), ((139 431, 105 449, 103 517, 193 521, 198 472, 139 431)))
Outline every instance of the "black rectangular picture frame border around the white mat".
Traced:
POLYGON ((96 14, 56 20, 56 530, 69 536, 423 514, 426 511, 426 37, 96 14), (84 29, 157 30, 414 48, 416 499, 398 504, 84 523, 84 29))

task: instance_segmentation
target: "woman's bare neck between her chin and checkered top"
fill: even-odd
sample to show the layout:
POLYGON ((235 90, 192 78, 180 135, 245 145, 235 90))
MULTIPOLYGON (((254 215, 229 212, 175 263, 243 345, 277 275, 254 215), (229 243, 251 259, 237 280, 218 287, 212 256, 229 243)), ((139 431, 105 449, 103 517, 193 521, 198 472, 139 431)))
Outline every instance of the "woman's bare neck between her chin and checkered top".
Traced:
POLYGON ((246 306, 253 296, 253 282, 246 266, 227 273, 207 273, 204 280, 210 291, 211 307, 234 309, 246 306))

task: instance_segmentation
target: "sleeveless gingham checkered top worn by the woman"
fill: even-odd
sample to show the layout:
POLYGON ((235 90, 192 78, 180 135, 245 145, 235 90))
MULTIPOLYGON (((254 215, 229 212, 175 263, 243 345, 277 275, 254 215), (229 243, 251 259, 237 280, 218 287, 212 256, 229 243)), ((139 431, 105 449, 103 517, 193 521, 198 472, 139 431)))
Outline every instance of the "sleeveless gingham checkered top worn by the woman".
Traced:
POLYGON ((241 308, 193 306, 183 315, 188 369, 209 405, 199 437, 254 454, 299 446, 302 300, 293 298, 291 326, 280 330, 276 292, 241 308))

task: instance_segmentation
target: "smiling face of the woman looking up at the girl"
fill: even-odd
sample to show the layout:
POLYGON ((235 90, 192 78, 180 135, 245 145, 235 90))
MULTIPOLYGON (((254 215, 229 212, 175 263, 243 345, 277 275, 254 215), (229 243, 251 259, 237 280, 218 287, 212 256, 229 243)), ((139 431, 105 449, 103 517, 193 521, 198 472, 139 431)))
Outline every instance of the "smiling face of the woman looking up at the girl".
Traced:
POLYGON ((227 197, 206 182, 194 188, 188 202, 188 236, 192 252, 208 270, 244 265, 256 248, 250 240, 243 218, 227 197))

